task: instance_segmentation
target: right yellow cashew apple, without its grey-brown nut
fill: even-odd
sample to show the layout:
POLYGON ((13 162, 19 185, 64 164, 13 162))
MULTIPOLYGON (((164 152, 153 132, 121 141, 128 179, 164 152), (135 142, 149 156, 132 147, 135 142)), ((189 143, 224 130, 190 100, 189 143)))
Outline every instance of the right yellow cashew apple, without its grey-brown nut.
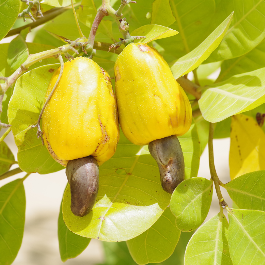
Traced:
POLYGON ((132 143, 146 145, 189 130, 189 100, 156 49, 145 43, 127 45, 114 71, 119 122, 132 143))

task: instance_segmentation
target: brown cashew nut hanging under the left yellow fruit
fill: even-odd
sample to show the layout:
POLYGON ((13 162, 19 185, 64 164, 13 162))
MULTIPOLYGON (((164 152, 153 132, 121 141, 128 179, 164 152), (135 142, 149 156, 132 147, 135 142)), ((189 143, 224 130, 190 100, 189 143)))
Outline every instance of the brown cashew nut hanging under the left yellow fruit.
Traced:
POLYGON ((85 216, 93 208, 99 189, 99 166, 92 156, 70 160, 65 173, 71 190, 71 211, 85 216))

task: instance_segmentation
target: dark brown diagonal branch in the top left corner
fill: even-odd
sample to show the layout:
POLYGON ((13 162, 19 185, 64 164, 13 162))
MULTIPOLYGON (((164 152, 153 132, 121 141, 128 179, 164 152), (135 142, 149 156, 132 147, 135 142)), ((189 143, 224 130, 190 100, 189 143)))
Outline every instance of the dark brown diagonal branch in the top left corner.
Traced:
POLYGON ((56 16, 62 14, 64 11, 70 9, 72 7, 55 7, 52 8, 51 10, 48 10, 43 14, 43 17, 39 18, 36 20, 36 22, 29 23, 23 27, 16 28, 16 29, 11 29, 9 32, 6 34, 5 38, 19 34, 21 30, 30 27, 31 29, 38 27, 39 25, 42 25, 46 23, 47 21, 55 18, 56 16))

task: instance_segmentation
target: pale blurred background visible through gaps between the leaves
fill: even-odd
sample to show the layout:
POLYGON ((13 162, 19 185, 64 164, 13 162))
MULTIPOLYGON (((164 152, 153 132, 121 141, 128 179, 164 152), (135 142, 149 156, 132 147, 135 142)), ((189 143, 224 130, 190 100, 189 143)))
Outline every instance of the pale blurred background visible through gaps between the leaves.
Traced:
MULTIPOLYGON (((32 42, 35 32, 39 27, 35 28, 27 36, 26 41, 32 42)), ((10 42, 15 36, 4 38, 0 43, 10 42)), ((209 80, 218 77, 220 69, 208 76, 209 80)), ((188 78, 193 79, 193 74, 189 73, 188 78)), ((0 136, 3 135, 5 129, 2 129, 0 136)), ((6 144, 10 147, 15 158, 17 147, 14 138, 10 133, 5 138, 6 144)), ((214 158, 217 174, 223 183, 230 181, 229 177, 229 147, 230 138, 214 139, 214 158)), ((13 165, 11 169, 17 167, 13 165)), ((3 179, 0 181, 0 187, 12 180, 21 178, 25 173, 3 179)), ((206 146, 200 160, 200 168, 198 176, 210 179, 208 147, 206 146)), ((40 175, 38 173, 31 174, 25 181, 26 193, 26 221, 24 237, 19 253, 14 261, 14 265, 59 265, 63 264, 60 259, 59 244, 57 238, 57 220, 59 208, 67 178, 65 170, 55 173, 40 175)), ((225 201, 232 207, 232 201, 225 189, 221 187, 225 201)), ((214 190, 213 201, 209 214, 205 221, 209 220, 219 212, 219 203, 214 190)), ((224 211, 226 214, 226 211, 224 211)), ((176 246, 173 255, 166 261, 159 263, 164 265, 183 265, 185 246, 193 232, 183 233, 180 241, 176 246)), ((78 257, 69 259, 65 262, 67 265, 133 265, 136 264, 130 257, 126 243, 109 243, 92 239, 88 247, 78 257)), ((157 263, 158 264, 158 263, 157 263)))

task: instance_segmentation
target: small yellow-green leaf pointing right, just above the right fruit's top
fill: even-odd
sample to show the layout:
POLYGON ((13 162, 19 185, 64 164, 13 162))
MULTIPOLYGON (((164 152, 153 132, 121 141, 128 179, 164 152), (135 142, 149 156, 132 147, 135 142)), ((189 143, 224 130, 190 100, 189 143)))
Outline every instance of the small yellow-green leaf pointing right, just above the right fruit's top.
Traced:
POLYGON ((145 39, 135 39, 134 42, 148 43, 154 41, 155 39, 162 39, 171 37, 178 34, 176 30, 163 27, 160 25, 144 25, 138 29, 135 29, 131 35, 132 36, 144 36, 145 39))

